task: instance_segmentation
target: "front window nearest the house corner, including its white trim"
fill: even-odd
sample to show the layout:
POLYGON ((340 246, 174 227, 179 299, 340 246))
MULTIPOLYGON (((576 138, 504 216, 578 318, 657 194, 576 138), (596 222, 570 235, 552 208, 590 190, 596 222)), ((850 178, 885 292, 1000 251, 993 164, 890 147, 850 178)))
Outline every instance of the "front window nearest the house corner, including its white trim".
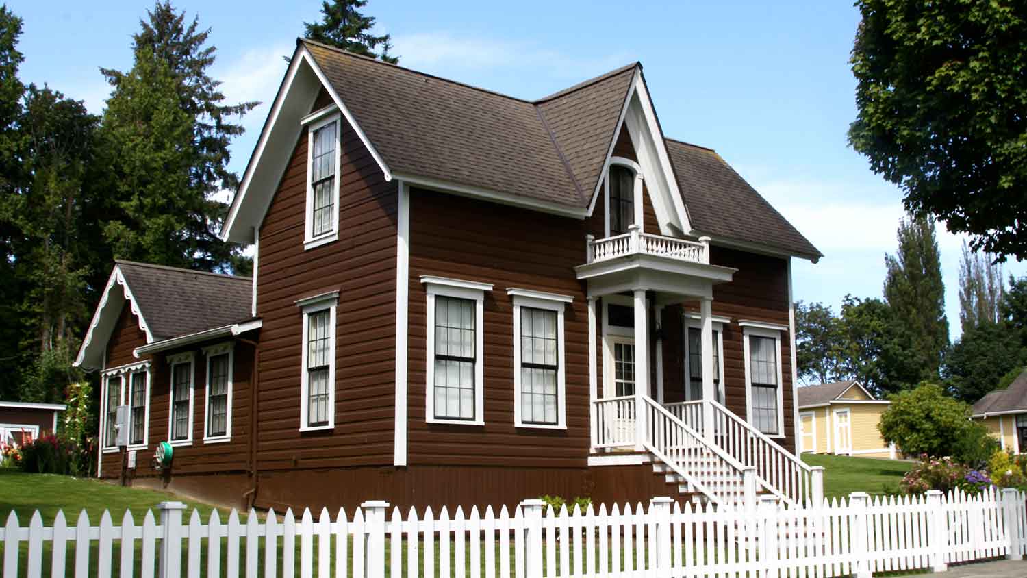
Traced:
POLYGON ((485 292, 492 285, 421 276, 427 293, 425 420, 484 424, 485 292))

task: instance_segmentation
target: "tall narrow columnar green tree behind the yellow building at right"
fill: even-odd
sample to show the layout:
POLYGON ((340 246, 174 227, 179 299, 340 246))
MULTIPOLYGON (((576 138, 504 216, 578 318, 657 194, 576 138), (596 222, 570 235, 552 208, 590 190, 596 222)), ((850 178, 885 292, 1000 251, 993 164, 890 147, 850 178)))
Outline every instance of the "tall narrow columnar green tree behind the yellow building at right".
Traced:
POLYGON ((936 380, 942 355, 949 345, 945 317, 945 284, 941 253, 935 238, 935 221, 903 219, 898 231, 899 249, 886 255, 884 301, 896 321, 907 332, 909 353, 919 368, 918 379, 936 380))

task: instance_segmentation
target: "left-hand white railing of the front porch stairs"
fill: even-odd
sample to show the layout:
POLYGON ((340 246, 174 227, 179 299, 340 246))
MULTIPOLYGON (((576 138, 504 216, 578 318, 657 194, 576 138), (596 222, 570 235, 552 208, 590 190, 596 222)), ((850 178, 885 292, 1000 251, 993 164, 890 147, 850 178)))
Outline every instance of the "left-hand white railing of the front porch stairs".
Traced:
POLYGON ((642 411, 646 412, 644 446, 649 453, 719 506, 745 500, 745 466, 652 398, 643 397, 642 411))

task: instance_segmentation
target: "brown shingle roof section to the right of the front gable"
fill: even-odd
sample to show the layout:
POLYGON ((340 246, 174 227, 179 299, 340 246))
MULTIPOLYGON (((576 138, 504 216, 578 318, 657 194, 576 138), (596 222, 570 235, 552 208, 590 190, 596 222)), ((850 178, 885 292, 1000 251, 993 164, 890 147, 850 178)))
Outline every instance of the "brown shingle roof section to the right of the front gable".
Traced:
POLYGON ((692 227, 705 234, 823 257, 716 151, 667 140, 692 227))

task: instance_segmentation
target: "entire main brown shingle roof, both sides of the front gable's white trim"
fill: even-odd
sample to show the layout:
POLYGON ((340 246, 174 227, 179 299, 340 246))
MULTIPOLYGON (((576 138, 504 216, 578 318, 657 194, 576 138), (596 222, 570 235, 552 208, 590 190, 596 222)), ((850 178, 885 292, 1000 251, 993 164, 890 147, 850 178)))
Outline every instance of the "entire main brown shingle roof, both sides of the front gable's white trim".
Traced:
MULTIPOLYGON (((641 65, 525 101, 300 39, 396 174, 587 208, 641 65)), ((658 138, 658 137, 657 137, 658 138)), ((821 253, 710 149, 665 141, 693 228, 821 253)))

